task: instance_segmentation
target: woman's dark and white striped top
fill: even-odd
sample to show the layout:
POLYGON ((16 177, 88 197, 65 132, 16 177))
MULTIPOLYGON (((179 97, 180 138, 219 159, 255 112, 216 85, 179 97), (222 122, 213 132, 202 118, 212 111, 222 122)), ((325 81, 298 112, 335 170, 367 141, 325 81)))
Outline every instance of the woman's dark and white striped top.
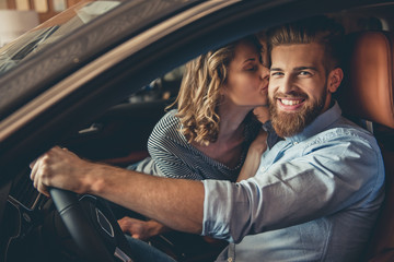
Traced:
POLYGON ((148 140, 150 157, 128 168, 171 178, 235 181, 245 160, 247 148, 262 124, 254 120, 245 120, 241 158, 234 168, 230 168, 208 157, 187 142, 179 132, 182 127, 179 119, 175 117, 176 112, 175 109, 169 111, 154 127, 148 140))

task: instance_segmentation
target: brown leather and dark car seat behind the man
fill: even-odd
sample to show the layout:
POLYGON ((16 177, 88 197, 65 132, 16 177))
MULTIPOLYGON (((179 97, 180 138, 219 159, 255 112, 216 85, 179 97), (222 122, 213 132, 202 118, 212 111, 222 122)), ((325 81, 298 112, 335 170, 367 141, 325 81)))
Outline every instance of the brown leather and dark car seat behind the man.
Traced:
POLYGON ((367 253, 361 261, 394 261, 394 35, 359 32, 345 39, 346 79, 338 90, 344 116, 362 119, 381 147, 385 166, 385 200, 367 253))

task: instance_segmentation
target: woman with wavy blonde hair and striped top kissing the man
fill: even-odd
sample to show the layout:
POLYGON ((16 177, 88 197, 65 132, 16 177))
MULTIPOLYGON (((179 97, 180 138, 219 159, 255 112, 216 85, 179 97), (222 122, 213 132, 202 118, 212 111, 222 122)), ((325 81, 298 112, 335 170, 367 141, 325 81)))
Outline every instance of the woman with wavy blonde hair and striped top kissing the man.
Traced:
MULTIPOLYGON (((173 104, 177 110, 158 122, 148 142, 151 157, 132 168, 173 178, 236 181, 260 130, 252 110, 267 104, 269 71, 260 50, 256 38, 246 37, 189 62, 173 104)), ((165 230, 157 222, 129 217, 119 225, 139 239, 165 230)))

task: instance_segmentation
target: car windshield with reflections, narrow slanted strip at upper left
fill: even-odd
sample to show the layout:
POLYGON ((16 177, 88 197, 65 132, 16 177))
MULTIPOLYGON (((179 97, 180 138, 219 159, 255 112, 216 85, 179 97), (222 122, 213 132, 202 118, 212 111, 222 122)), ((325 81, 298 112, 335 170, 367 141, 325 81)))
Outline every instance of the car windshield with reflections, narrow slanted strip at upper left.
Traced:
POLYGON ((81 1, 0 48, 0 75, 119 3, 112 0, 81 1))

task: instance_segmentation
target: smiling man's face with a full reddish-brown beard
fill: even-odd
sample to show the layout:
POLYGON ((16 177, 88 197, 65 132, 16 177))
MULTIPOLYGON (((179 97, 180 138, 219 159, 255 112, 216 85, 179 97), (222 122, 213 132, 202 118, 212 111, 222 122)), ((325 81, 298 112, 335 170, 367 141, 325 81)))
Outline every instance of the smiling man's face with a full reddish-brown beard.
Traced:
POLYGON ((273 126, 280 136, 301 132, 329 107, 323 46, 282 45, 271 51, 268 86, 273 126))

